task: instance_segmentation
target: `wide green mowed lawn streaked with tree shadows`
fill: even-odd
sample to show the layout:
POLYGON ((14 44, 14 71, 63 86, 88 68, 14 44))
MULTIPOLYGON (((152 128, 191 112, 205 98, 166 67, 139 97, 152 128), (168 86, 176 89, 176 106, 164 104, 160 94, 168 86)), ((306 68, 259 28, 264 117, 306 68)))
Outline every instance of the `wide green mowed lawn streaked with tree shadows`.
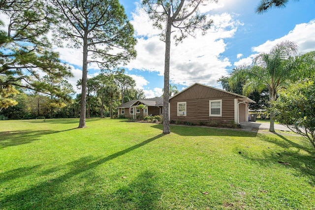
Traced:
POLYGON ((315 209, 300 137, 126 120, 0 121, 0 209, 315 209))

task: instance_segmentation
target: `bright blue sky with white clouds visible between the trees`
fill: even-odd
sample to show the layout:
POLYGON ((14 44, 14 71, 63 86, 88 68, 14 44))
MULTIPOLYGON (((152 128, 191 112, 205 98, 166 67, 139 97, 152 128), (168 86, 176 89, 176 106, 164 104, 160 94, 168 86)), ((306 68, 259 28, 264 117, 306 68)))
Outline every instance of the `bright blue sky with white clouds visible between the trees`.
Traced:
MULTIPOLYGON (((138 39, 137 58, 125 67, 147 98, 160 96, 163 88, 164 43, 159 40, 140 1, 120 0, 135 29, 138 39)), ((214 20, 205 36, 196 33, 183 43, 171 45, 170 81, 179 90, 198 82, 221 88, 216 81, 240 64, 250 64, 252 58, 269 52, 277 43, 295 41, 300 52, 315 50, 315 0, 291 0, 285 8, 272 8, 256 14, 259 0, 219 0, 200 10, 214 20)), ((61 59, 73 66, 75 84, 81 78, 82 54, 74 49, 59 50, 61 59)), ((95 65, 89 75, 98 74, 95 65)))

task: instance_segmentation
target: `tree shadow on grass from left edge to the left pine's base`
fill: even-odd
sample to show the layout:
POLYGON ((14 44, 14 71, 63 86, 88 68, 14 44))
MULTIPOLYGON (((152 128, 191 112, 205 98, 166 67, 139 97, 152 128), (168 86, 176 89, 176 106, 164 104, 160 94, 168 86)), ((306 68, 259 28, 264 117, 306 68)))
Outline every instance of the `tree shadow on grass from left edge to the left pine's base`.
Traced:
POLYGON ((76 128, 71 128, 62 131, 56 130, 16 130, 16 131, 2 131, 0 132, 0 149, 28 144, 33 141, 40 140, 40 137, 52 133, 60 133, 69 130, 74 130, 76 128))

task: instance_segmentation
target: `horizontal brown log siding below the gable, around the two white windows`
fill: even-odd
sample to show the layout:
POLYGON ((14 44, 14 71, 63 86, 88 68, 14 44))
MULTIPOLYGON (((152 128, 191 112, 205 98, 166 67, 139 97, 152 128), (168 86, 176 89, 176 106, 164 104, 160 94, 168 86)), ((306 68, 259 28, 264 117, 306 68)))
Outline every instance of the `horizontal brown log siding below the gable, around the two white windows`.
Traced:
POLYGON ((182 122, 209 122, 215 121, 220 123, 229 123, 234 121, 234 98, 230 97, 216 97, 216 98, 203 98, 193 100, 177 100, 178 98, 172 98, 170 100, 170 120, 180 120, 182 122), (176 100, 175 100, 176 99, 176 100), (222 100, 222 116, 210 117, 209 116, 209 100, 222 100), (186 104, 186 116, 177 116, 177 102, 187 102, 186 104))

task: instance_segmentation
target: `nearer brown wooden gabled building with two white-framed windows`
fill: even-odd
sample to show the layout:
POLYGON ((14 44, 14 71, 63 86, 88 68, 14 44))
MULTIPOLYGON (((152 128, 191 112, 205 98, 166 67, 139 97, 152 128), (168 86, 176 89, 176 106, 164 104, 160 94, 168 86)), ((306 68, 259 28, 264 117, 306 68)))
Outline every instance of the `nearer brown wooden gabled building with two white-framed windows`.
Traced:
POLYGON ((252 99, 195 83, 169 99, 170 120, 240 123, 248 121, 252 99))

